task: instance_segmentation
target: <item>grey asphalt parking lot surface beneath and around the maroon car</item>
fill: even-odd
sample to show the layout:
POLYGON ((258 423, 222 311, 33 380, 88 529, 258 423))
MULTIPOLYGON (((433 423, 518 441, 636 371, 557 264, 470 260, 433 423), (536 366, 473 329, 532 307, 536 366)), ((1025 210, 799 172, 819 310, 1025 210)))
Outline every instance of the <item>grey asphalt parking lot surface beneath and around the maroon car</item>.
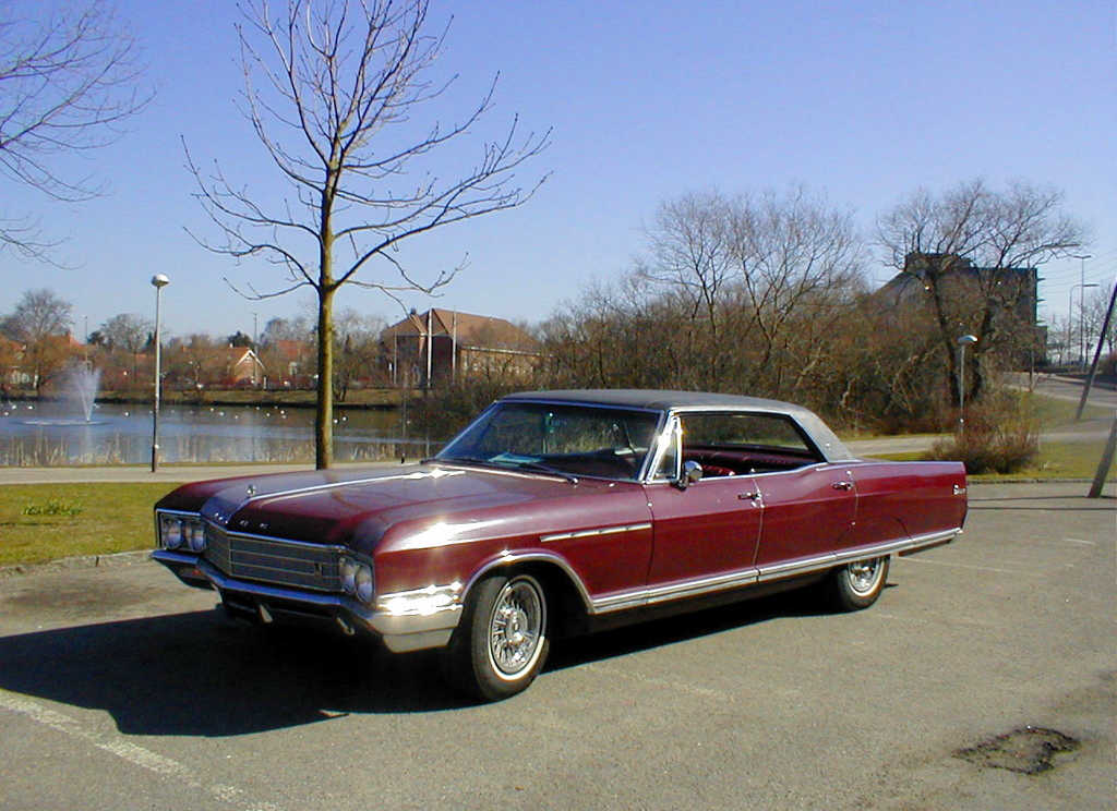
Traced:
POLYGON ((1113 808, 1117 501, 1087 486, 972 486, 867 611, 569 641, 487 706, 423 655, 229 625, 151 562, 3 578, 0 808, 1113 808))

